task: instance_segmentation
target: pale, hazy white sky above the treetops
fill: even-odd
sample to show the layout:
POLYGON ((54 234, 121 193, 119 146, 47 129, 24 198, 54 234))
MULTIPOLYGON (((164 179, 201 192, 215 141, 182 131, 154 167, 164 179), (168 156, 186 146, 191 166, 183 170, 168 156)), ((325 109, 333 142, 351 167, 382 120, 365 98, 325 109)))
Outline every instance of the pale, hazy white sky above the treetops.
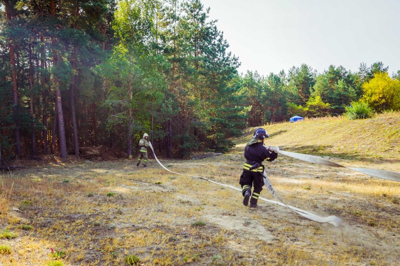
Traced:
POLYGON ((302 63, 400 70, 400 0, 201 0, 239 57, 238 71, 286 73, 302 63))

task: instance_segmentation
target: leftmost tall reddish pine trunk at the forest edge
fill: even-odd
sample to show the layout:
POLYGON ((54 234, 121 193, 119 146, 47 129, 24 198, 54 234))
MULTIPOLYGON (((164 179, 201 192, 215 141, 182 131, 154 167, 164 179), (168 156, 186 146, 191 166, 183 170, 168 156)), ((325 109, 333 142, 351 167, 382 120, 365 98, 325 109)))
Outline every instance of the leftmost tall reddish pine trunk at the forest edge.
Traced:
MULTIPOLYGON (((11 20, 11 6, 9 6, 8 1, 4 1, 5 5, 5 13, 7 20, 11 20)), ((17 157, 22 156, 22 147, 21 147, 21 137, 19 133, 19 121, 18 121, 18 87, 16 81, 16 64, 15 64, 15 51, 14 51, 14 43, 12 38, 9 38, 8 43, 9 48, 9 62, 11 65, 11 83, 12 83, 12 107, 14 113, 14 136, 15 136, 15 154, 17 157)))

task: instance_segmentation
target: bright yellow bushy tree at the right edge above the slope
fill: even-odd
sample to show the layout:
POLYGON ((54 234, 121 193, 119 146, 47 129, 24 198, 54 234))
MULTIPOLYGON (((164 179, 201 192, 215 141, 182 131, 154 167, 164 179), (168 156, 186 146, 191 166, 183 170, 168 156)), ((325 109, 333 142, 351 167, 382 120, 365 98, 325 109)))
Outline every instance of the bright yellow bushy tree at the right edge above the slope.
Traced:
POLYGON ((363 100, 375 111, 400 110, 400 81, 393 80, 387 72, 377 72, 362 84, 363 100))

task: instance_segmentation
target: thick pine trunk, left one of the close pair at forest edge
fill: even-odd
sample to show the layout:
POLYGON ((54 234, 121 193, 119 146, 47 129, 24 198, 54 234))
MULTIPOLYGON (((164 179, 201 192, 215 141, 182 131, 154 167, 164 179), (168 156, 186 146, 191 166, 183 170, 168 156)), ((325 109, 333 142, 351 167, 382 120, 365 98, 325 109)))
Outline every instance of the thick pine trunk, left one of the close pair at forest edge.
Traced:
MULTIPOLYGON (((55 0, 51 0, 50 2, 50 13, 51 16, 55 17, 55 0)), ((55 43, 56 43, 55 38, 51 37, 51 44, 54 46, 55 43)), ((53 47, 53 67, 57 67, 57 50, 54 47, 53 47)), ((57 109, 58 134, 59 134, 58 142, 59 142, 60 156, 62 159, 66 159, 66 140, 65 140, 64 117, 62 113, 61 92, 59 90, 59 81, 56 76, 54 76, 54 96, 57 109)))

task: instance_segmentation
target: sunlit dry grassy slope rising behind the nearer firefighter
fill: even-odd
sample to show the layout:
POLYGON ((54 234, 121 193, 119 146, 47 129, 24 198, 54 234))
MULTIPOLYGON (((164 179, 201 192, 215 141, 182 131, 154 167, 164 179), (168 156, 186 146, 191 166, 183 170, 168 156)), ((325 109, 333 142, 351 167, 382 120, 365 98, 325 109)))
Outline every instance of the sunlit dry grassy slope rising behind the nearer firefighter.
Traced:
MULTIPOLYGON (((307 154, 339 159, 400 162, 400 113, 380 114, 374 118, 305 119, 295 123, 265 125, 270 138, 267 145, 307 154)), ((235 140, 238 148, 251 137, 247 129, 235 140)))

